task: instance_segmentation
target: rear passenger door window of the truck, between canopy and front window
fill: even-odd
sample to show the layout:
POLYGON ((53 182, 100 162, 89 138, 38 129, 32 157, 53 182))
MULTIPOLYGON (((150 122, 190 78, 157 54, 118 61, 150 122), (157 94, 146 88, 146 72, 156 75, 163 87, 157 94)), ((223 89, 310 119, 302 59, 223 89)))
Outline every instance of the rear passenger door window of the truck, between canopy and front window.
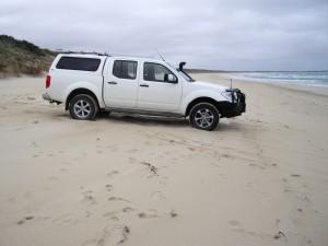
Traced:
POLYGON ((137 78, 137 61, 114 61, 113 74, 119 79, 134 80, 137 78))

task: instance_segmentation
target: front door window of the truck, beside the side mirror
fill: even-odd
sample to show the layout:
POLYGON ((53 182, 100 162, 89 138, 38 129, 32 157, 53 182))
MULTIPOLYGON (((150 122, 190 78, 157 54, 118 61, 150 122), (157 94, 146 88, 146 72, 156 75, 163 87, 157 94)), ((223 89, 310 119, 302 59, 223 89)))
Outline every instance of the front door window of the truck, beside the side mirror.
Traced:
POLYGON ((177 81, 176 75, 163 65, 151 62, 143 63, 143 80, 145 81, 167 82, 168 74, 172 74, 173 78, 175 78, 175 81, 177 81))

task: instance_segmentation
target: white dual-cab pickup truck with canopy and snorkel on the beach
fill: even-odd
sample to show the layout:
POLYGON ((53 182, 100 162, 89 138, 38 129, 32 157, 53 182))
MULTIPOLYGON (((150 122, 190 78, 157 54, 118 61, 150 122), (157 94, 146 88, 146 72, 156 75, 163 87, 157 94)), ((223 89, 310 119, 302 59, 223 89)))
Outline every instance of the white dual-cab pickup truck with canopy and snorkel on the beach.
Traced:
POLYGON ((44 99, 63 103, 73 119, 92 120, 99 112, 184 117, 213 130, 222 117, 245 112, 237 89, 195 81, 185 62, 101 54, 60 54, 46 79, 44 99))

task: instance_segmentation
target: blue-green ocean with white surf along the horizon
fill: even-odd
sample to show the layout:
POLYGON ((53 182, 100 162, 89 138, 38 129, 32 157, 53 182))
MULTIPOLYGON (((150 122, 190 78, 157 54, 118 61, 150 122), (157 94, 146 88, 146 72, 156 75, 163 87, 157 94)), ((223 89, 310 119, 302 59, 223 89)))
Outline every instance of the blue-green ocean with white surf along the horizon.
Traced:
POLYGON ((288 83, 328 87, 328 71, 325 72, 232 72, 232 79, 269 83, 288 83))

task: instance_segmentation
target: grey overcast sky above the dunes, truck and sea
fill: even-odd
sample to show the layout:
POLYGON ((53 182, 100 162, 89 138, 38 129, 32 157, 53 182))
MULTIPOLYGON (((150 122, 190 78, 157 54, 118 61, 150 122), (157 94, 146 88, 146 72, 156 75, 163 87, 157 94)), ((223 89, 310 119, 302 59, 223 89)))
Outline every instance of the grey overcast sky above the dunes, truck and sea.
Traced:
POLYGON ((328 0, 1 0, 0 33, 189 68, 328 70, 328 0))

